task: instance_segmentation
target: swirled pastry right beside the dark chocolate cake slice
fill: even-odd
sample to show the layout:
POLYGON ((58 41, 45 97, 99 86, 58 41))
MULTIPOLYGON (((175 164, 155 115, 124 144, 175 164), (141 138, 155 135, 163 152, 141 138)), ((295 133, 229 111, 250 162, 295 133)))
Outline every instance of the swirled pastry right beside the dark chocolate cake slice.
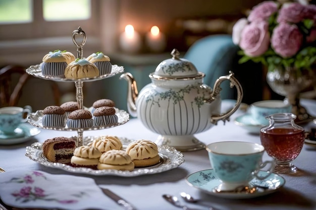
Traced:
POLYGON ((95 147, 81 146, 75 149, 70 162, 74 166, 96 169, 102 153, 95 147))

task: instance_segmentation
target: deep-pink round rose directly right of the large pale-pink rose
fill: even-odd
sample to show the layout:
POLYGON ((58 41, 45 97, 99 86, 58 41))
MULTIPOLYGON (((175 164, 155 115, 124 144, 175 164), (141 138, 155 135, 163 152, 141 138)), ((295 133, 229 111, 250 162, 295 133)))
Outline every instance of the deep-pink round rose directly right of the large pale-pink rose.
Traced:
POLYGON ((272 32, 271 46, 282 57, 291 57, 301 47, 303 35, 296 25, 280 23, 272 32))

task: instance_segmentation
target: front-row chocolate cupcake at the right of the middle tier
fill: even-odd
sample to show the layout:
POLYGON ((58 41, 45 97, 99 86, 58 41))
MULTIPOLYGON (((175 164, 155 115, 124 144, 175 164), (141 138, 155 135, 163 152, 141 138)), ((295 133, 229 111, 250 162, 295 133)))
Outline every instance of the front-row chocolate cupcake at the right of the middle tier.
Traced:
POLYGON ((115 109, 110 106, 101 106, 93 112, 93 125, 104 126, 118 123, 119 117, 115 114, 115 109))

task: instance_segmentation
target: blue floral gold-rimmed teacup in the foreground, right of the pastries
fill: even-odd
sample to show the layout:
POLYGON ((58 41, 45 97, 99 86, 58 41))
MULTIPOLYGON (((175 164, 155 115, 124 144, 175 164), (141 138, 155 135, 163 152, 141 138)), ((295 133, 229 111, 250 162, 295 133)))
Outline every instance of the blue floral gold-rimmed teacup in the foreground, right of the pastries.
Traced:
POLYGON ((249 186, 253 178, 266 179, 274 169, 275 161, 262 163, 265 148, 249 142, 216 142, 207 145, 211 166, 221 184, 213 190, 234 191, 237 187, 249 186), (270 164, 267 176, 258 176, 260 169, 270 164))

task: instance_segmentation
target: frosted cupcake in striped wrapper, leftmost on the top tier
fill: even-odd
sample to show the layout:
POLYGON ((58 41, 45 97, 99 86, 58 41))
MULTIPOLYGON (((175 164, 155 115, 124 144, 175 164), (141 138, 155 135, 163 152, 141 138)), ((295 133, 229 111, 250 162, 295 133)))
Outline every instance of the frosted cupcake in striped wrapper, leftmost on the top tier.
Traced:
POLYGON ((46 54, 41 63, 42 75, 63 77, 67 66, 67 59, 62 55, 60 50, 46 54))

